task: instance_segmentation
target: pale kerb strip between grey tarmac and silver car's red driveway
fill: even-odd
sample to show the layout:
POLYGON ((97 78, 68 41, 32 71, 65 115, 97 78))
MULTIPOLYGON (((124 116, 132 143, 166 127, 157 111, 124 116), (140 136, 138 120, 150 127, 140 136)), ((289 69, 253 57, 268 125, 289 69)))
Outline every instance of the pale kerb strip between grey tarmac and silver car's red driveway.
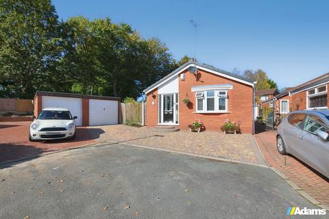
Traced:
POLYGON ((258 149, 259 149, 260 153, 262 154, 265 162, 267 163, 267 165, 269 166, 269 168, 271 170, 273 170, 273 172, 276 172, 277 175, 279 175, 282 179, 284 179, 284 181, 286 181, 286 183, 288 185, 290 185, 301 196, 303 196, 304 198, 306 198, 310 203, 312 203, 313 205, 317 205, 318 207, 321 207, 321 208, 326 209, 327 211, 329 211, 329 206, 328 205, 321 204, 319 201, 317 201, 317 199, 315 199, 312 196, 310 196, 310 194, 308 194, 302 188, 300 188, 298 185, 296 185, 293 181, 291 181, 291 179, 289 179, 289 177, 287 177, 286 175, 284 175, 277 168, 274 168, 273 166, 269 165, 269 163, 267 162, 267 160, 265 159, 265 157, 263 155, 262 150, 260 150, 260 146, 258 145, 258 142, 257 142, 256 138, 254 138, 254 140, 255 140, 255 142, 256 142, 256 144, 258 146, 258 149))

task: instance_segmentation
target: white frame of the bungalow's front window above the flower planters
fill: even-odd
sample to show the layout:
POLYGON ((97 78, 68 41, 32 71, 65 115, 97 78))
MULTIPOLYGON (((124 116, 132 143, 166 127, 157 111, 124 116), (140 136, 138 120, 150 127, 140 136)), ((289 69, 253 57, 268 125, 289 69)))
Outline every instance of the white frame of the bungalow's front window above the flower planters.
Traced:
MULTIPOLYGON (((201 114, 210 114, 210 113, 227 113, 228 112, 228 90, 204 90, 202 91, 204 93, 202 99, 204 99, 203 101, 203 106, 202 106, 202 109, 203 110, 197 110, 197 99, 200 99, 201 97, 195 97, 195 112, 196 113, 201 113, 201 114), (215 92, 215 95, 214 96, 207 96, 207 92, 208 91, 214 91, 215 92), (224 94, 219 94, 219 92, 225 92, 225 95, 224 94), (224 97, 226 99, 225 101, 225 108, 226 110, 219 110, 219 98, 221 97, 224 97), (214 99, 214 103, 215 103, 215 107, 214 107, 214 110, 207 110, 207 101, 208 101, 208 98, 210 99, 214 99)), ((195 94, 196 95, 196 94, 195 94)))

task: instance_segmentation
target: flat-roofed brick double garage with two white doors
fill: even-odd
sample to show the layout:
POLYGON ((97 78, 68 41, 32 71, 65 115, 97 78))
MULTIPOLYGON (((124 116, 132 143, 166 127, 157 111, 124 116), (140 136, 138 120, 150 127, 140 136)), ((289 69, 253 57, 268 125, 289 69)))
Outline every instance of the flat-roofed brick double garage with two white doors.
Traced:
POLYGON ((120 123, 119 97, 37 91, 34 96, 34 116, 38 116, 46 107, 69 109, 72 116, 77 116, 77 126, 120 123))

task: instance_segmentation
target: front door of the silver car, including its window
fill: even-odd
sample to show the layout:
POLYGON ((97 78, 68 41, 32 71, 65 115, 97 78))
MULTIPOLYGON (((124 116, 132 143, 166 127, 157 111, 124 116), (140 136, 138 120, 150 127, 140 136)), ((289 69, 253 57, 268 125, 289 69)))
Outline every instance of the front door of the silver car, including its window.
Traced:
POLYGON ((329 142, 321 140, 316 134, 317 130, 329 133, 328 125, 321 118, 308 114, 304 129, 298 135, 298 138, 302 140, 300 154, 303 162, 319 172, 329 175, 329 142))

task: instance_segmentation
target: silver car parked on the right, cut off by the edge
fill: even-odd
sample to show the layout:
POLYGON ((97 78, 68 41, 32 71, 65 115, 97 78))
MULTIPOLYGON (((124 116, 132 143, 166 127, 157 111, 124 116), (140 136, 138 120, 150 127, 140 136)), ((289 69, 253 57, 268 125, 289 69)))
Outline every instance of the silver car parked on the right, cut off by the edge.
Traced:
POLYGON ((278 125, 276 145, 329 178, 329 110, 291 112, 278 125))

